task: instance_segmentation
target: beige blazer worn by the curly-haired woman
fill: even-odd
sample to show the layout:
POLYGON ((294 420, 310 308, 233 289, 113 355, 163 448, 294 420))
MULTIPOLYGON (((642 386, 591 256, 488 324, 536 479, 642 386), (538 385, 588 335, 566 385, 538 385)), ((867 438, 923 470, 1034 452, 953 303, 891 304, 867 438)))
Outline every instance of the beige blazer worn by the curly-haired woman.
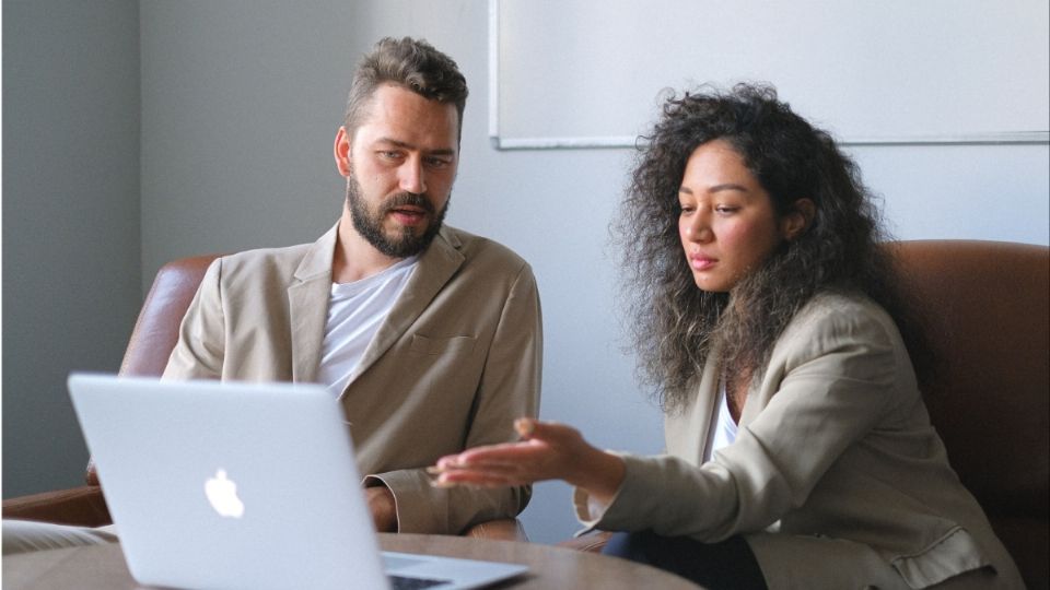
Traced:
POLYGON ((745 534, 770 589, 925 588, 967 571, 945 587, 1023 588, 948 465, 880 307, 820 295, 803 308, 751 384, 736 441, 701 464, 719 394, 711 356, 698 394, 666 416, 667 456, 625 456, 627 479, 597 518, 578 493, 584 523, 745 534))

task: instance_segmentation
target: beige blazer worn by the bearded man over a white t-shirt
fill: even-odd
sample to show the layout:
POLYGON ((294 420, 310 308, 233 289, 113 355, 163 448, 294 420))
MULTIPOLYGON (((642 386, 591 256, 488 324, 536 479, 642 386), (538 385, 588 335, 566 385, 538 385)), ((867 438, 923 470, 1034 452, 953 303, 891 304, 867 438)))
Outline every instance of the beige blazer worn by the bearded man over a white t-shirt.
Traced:
MULTIPOLYGON (((337 227, 315 244, 215 260, 164 377, 316 380, 337 227)), ((443 228, 340 398, 365 485, 390 488, 400 531, 457 533, 525 508, 527 486, 439 489, 424 468, 514 439, 514 418, 538 410, 541 354, 529 266, 499 244, 443 228)))

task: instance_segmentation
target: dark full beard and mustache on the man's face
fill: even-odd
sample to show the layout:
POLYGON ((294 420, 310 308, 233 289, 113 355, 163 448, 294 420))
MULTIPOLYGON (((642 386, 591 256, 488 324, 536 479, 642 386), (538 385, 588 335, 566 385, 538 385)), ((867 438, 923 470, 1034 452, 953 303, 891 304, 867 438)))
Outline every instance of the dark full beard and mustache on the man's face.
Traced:
POLYGON ((347 205, 350 208, 350 219, 353 221, 354 229, 376 250, 392 258, 408 258, 425 250, 441 231, 451 201, 450 196, 445 205, 435 214, 434 205, 423 194, 399 192, 380 203, 378 211, 372 211, 369 203, 361 197, 361 185, 358 184, 357 178, 351 176, 347 182, 347 205), (404 205, 418 206, 430 217, 430 223, 421 235, 417 236, 410 226, 404 226, 399 235, 395 236, 388 236, 383 232, 383 220, 386 214, 404 205))

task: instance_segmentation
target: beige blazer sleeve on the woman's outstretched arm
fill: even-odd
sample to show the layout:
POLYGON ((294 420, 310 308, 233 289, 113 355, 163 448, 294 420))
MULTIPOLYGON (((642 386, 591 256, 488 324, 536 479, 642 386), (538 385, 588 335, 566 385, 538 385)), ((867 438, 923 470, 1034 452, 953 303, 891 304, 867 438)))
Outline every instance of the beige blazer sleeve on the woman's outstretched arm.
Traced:
MULTIPOLYGON (((802 506, 829 467, 886 415, 901 361, 896 329, 874 314, 802 323, 774 347, 760 388, 772 392, 732 445, 701 465, 625 456, 620 491, 590 520, 578 510, 584 524, 713 542, 763 530, 802 506)), ((585 500, 578 495, 578 506, 585 500)))

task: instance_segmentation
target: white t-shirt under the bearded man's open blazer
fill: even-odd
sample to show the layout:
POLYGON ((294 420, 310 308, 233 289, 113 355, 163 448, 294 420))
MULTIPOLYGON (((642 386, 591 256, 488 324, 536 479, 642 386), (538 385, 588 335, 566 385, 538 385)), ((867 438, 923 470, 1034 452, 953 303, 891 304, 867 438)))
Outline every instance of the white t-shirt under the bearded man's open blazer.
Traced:
POLYGON ((416 270, 418 256, 352 283, 332 283, 318 381, 341 396, 365 349, 416 270))

